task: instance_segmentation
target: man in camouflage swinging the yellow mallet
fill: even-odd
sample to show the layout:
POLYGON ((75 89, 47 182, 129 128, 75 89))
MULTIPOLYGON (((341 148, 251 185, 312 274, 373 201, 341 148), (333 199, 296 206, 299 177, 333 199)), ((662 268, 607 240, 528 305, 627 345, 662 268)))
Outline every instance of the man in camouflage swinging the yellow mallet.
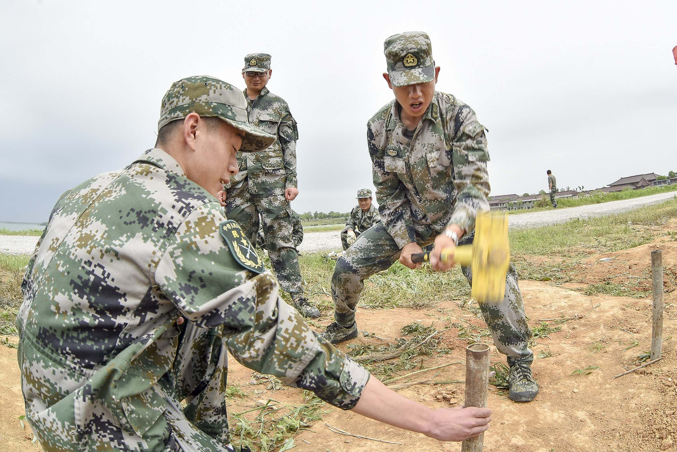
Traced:
MULTIPOLYGON (((487 140, 475 112, 451 94, 435 91, 439 66, 431 41, 422 32, 386 39, 388 73, 395 100, 378 110, 367 125, 376 201, 381 222, 364 232, 334 268, 334 319, 322 336, 332 344, 357 337, 355 307, 364 280, 395 260, 416 268, 413 253, 435 244, 431 264, 443 249, 472 243, 475 216, 488 210, 487 140)), ((420 266, 420 264, 418 264, 420 266)), ((462 269, 468 282, 470 268, 462 269)), ((531 376, 531 330, 524 314, 517 272, 510 266, 503 300, 480 304, 494 344, 508 356, 510 398, 528 401, 538 393, 531 376)))

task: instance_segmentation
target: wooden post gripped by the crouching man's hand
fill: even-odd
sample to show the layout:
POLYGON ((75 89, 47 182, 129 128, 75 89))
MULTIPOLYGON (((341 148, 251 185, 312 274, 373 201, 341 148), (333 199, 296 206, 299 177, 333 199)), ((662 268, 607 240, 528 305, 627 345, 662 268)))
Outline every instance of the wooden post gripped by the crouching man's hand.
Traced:
MULTIPOLYGON (((489 346, 473 344, 466 347, 466 407, 487 407, 487 387, 489 386, 489 346)), ((482 452, 484 433, 477 438, 466 439, 461 452, 482 452)))

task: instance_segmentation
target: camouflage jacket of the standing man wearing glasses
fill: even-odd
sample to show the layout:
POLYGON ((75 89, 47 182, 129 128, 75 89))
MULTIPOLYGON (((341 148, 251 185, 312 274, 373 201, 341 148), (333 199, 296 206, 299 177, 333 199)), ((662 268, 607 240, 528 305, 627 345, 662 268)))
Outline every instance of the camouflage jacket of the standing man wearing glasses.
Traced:
POLYGON ((299 129, 284 99, 272 94, 266 87, 251 100, 244 89, 249 123, 278 137, 269 148, 259 152, 238 153, 240 172, 231 178, 236 186, 245 178, 253 197, 269 197, 284 194, 284 189, 297 186, 296 142, 299 129))

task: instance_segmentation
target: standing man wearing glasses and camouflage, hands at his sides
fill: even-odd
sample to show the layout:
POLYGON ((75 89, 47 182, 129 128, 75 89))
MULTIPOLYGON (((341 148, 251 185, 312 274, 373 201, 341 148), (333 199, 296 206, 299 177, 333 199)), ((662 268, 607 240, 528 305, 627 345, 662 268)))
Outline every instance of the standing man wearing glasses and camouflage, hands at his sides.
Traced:
POLYGON ((248 54, 244 57, 242 78, 247 87, 249 123, 275 136, 269 148, 248 155, 238 155, 240 172, 220 192, 225 194, 227 218, 242 226, 248 239, 256 243, 259 215, 268 244, 268 255, 280 286, 288 292, 294 307, 306 317, 319 317, 320 311, 303 296, 299 258, 292 237, 292 216, 289 201, 299 194, 297 188, 296 141, 297 123, 284 99, 268 91, 273 71, 270 55, 248 54))

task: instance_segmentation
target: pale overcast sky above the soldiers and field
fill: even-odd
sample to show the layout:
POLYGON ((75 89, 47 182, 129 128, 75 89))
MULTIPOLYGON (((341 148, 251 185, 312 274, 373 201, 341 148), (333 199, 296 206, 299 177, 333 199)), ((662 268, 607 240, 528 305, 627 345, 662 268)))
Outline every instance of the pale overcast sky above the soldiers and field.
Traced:
POLYGON ((160 99, 190 75, 269 89, 299 123, 299 211, 348 211, 372 185, 366 122, 394 96, 383 41, 424 30, 437 89, 487 129, 492 194, 598 188, 677 171, 677 2, 53 1, 0 3, 0 220, 152 147, 160 99), (601 5, 604 3, 606 6, 601 5))

